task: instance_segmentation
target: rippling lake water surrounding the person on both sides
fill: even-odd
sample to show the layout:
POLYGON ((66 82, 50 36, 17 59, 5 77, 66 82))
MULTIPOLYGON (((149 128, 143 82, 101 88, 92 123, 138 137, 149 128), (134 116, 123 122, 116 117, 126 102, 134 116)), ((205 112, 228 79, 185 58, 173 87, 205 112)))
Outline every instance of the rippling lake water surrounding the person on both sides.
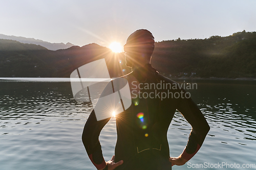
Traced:
MULTIPOLYGON (((218 163, 236 163, 240 168, 230 169, 241 169, 243 164, 256 164, 256 81, 185 83, 197 83, 197 89, 188 91, 211 129, 189 163, 173 169, 218 163)), ((93 108, 75 102, 68 79, 0 80, 0 96, 0 169, 96 169, 81 141, 93 108)), ((170 156, 182 153, 190 130, 176 113, 168 130, 170 156)), ((110 160, 116 142, 114 118, 99 139, 105 160, 110 160)))

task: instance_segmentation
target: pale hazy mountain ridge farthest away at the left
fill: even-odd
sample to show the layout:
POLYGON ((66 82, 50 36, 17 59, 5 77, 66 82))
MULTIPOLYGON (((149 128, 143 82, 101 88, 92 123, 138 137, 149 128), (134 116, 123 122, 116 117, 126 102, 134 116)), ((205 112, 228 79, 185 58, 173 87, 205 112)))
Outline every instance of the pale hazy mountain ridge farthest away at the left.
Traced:
POLYGON ((9 36, 9 35, 4 35, 0 34, 0 39, 10 39, 10 40, 15 40, 18 42, 23 42, 23 43, 28 43, 28 44, 36 44, 36 45, 41 45, 46 47, 48 50, 59 50, 59 49, 66 49, 71 46, 74 46, 72 43, 50 43, 47 41, 42 41, 39 39, 34 39, 34 38, 25 38, 25 37, 16 37, 16 36, 9 36))

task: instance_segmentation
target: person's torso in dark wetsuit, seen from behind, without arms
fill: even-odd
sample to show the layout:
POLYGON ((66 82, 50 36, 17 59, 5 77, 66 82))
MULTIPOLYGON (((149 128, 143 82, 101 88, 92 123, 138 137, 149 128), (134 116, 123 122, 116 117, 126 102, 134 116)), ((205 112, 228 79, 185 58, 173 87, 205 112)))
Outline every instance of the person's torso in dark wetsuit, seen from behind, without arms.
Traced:
POLYGON ((178 90, 168 87, 176 82, 152 67, 123 78, 129 82, 132 105, 116 116, 115 162, 124 161, 116 169, 171 169, 167 131, 179 99, 173 96, 178 90))

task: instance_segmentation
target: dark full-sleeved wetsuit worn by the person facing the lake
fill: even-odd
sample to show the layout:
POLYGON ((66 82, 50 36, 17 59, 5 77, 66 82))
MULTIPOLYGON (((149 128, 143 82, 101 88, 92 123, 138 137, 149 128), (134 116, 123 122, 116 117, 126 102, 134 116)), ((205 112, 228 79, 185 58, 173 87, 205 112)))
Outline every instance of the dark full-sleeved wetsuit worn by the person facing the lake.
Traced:
MULTIPOLYGON (((182 153, 183 158, 191 159, 201 147, 209 126, 197 105, 190 98, 185 98, 184 89, 148 87, 160 82, 171 85, 176 83, 158 74, 151 64, 135 69, 123 78, 129 82, 132 105, 116 115, 115 162, 123 160, 123 164, 116 169, 172 169, 172 163, 169 162, 167 130, 176 109, 192 126, 186 148, 182 153), (138 89, 140 97, 138 91, 136 92, 138 89), (161 92, 169 93, 169 98, 161 99, 161 92), (179 98, 176 92, 180 94, 179 98), (151 93, 151 96, 146 98, 146 93, 151 93), (176 97, 170 96, 174 93, 176 97)), ((97 121, 93 110, 82 134, 84 147, 98 169, 105 166, 98 137, 109 120, 110 118, 97 121)))

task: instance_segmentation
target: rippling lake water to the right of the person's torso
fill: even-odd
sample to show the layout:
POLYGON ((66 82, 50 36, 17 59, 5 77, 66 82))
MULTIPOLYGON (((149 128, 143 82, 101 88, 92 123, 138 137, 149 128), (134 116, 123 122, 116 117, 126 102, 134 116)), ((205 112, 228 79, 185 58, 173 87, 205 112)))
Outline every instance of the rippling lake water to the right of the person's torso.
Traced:
MULTIPOLYGON (((191 93, 211 128, 199 153, 190 162, 194 164, 235 162, 241 166, 255 163, 256 82, 220 80, 186 80, 185 82, 198 83, 198 89, 187 91, 191 93)), ((170 148, 176 153, 174 156, 179 156, 183 151, 184 147, 177 148, 177 145, 186 144, 183 140, 187 139, 190 130, 190 125, 182 115, 175 114, 168 131, 170 148), (175 139, 173 135, 178 138, 175 139), (174 146, 171 145, 172 143, 174 146)), ((172 151, 170 155, 172 156, 172 151)), ((186 168, 187 166, 175 169, 186 168)))

